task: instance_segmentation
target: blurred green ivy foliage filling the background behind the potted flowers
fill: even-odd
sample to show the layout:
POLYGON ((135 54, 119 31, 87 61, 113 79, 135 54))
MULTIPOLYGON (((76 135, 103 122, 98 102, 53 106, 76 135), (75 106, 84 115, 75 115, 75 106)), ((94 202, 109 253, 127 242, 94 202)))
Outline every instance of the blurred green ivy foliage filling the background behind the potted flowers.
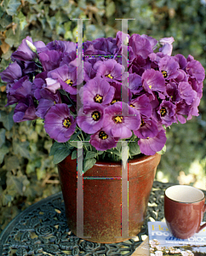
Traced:
MULTIPOLYGON (((157 39, 174 37, 173 55, 193 55, 206 67, 205 9, 204 0, 3 0, 0 72, 8 67, 10 55, 26 36, 45 44, 55 39, 76 42, 77 18, 87 19, 83 20, 84 41, 115 37, 122 29, 121 20, 115 19, 134 19, 128 21, 129 34, 147 34, 157 39)), ((60 190, 53 163, 54 148, 50 151, 52 141, 43 129, 43 122, 14 124, 14 108, 4 108, 5 90, 6 84, 0 81, 0 230, 34 201, 60 190)), ((193 160, 206 162, 205 90, 199 109, 197 118, 186 125, 174 124, 167 133, 167 153, 159 168, 170 182, 176 182, 180 171, 187 172, 193 160)), ((117 156, 120 146, 115 151, 117 156)), ((130 154, 134 154, 135 145, 130 148, 130 154)), ((71 153, 71 148, 63 149, 59 149, 55 162, 63 157, 63 151, 71 153)), ((94 163, 96 154, 85 153, 84 168, 94 163)), ((77 150, 72 151, 72 158, 77 158, 77 150)))

